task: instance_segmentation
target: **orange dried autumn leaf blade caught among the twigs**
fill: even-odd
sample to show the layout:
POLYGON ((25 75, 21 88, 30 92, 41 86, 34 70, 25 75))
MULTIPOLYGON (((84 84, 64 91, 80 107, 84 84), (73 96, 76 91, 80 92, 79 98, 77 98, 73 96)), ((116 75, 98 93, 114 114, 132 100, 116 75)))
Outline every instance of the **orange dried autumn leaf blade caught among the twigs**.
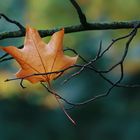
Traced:
MULTIPOLYGON (((63 54, 64 29, 54 33, 48 44, 43 42, 38 31, 29 26, 26 28, 24 47, 18 49, 14 46, 2 48, 12 55, 20 64, 21 69, 16 73, 18 78, 23 78, 35 73, 47 73, 65 69, 76 63, 76 57, 63 54)), ((31 83, 50 82, 60 73, 47 76, 31 76, 25 78, 31 83)))

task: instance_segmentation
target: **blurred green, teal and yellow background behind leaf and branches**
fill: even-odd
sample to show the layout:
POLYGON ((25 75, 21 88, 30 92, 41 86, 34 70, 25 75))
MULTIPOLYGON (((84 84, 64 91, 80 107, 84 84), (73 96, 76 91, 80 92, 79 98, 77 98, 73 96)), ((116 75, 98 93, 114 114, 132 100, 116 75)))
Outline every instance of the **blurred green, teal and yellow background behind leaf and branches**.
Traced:
MULTIPOLYGON (((88 21, 139 20, 138 0, 77 0, 88 21)), ((24 26, 51 29, 79 23, 77 13, 69 0, 4 0, 0 1, 0 12, 24 26)), ((15 25, 0 20, 0 32, 17 30, 15 25)), ((74 48, 87 60, 93 58, 100 40, 104 48, 111 39, 129 33, 130 30, 87 31, 65 35, 64 47, 74 48)), ((44 38, 48 41, 50 37, 44 38)), ((24 38, 5 39, 1 46, 20 46, 24 38)), ((117 43, 98 64, 106 69, 117 62, 123 53, 125 41, 117 43)), ((125 61, 124 83, 140 83, 139 33, 131 43, 125 61)), ((0 52, 2 55, 3 52, 0 52)), ((72 55, 72 54, 70 54, 72 55)), ((80 63, 80 60, 78 61, 80 63)), ((115 88, 111 94, 91 104, 75 108, 69 114, 77 122, 73 126, 57 102, 40 85, 4 80, 14 77, 17 63, 7 61, 0 64, 0 140, 140 140, 140 89, 115 88)), ((69 75, 70 73, 68 73, 69 75)), ((119 77, 119 70, 108 76, 119 77)), ((109 85, 96 73, 84 71, 69 83, 60 83, 63 76, 54 82, 55 90, 73 102, 84 101, 105 92, 109 85)))

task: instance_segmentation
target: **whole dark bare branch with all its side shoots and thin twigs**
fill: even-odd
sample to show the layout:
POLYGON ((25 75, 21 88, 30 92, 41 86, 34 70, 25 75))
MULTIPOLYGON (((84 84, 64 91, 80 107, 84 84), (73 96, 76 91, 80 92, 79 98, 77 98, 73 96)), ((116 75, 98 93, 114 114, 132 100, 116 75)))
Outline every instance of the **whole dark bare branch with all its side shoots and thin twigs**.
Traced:
MULTIPOLYGON (((47 72, 47 73, 34 73, 31 75, 27 75, 25 77, 20 77, 20 78, 12 78, 12 79, 7 79, 5 80, 7 81, 13 81, 13 80, 20 80, 20 86, 22 88, 25 88, 23 86, 23 81, 29 77, 32 76, 40 76, 40 75, 50 75, 50 74, 59 74, 59 76, 61 76, 61 74, 63 74, 65 71, 67 71, 68 69, 72 69, 72 68, 78 68, 78 71, 76 71, 75 73, 73 73, 70 77, 68 77, 66 80, 64 80, 64 83, 68 82, 70 79, 74 78, 75 76, 81 74, 85 69, 90 69, 93 72, 97 73, 101 78, 103 78, 103 80, 105 80, 106 82, 108 82, 110 84, 110 87, 102 94, 98 94, 97 96, 94 96, 84 102, 80 102, 80 103, 72 103, 69 102, 68 100, 66 100, 65 98, 61 97, 60 95, 58 95, 56 92, 54 92, 52 90, 52 88, 48 88, 47 85, 45 85, 44 83, 41 82, 41 84, 43 85, 43 87, 45 87, 45 89, 50 92, 51 94, 53 94, 56 98, 56 100, 58 101, 58 103, 60 104, 61 108, 63 109, 64 113, 67 115, 67 117, 71 120, 71 122, 73 122, 75 124, 75 122, 72 120, 72 118, 67 114, 67 112, 65 111, 65 108, 61 105, 61 102, 59 102, 59 100, 64 101, 65 103, 67 103, 68 105, 72 106, 72 108, 77 107, 77 106, 81 106, 81 105, 85 105, 88 103, 91 103, 92 101, 108 96, 111 91, 115 88, 115 87, 125 87, 125 88, 130 88, 130 87, 140 87, 140 85, 125 85, 125 84, 121 84, 123 78, 124 78, 124 61, 126 59, 129 47, 130 47, 130 43, 132 42, 132 40, 134 39, 134 37, 137 34, 137 30, 138 28, 140 28, 140 21, 129 21, 129 22, 109 22, 109 23, 88 23, 85 14, 82 12, 80 6, 78 5, 78 3, 76 2, 76 0, 70 0, 70 2, 72 3, 72 5, 74 6, 74 8, 77 11, 77 14, 79 16, 79 20, 80 20, 80 24, 79 25, 73 25, 73 26, 66 26, 66 27, 62 27, 65 29, 65 33, 74 33, 74 32, 81 32, 81 31, 93 31, 93 30, 116 30, 116 29, 129 29, 132 28, 132 31, 124 36, 118 37, 116 39, 113 39, 112 42, 107 46, 107 48, 105 50, 102 50, 102 41, 100 41, 100 45, 99 45, 99 49, 97 51, 96 56, 90 60, 87 61, 83 56, 79 55, 77 51, 75 51, 74 49, 71 48, 66 48, 64 49, 64 51, 72 51, 74 54, 79 55, 79 58, 83 61, 82 64, 76 64, 70 67, 67 67, 65 69, 59 70, 59 71, 52 71, 52 72, 47 72), (113 66, 111 66, 110 68, 108 68, 107 70, 101 69, 99 70, 98 67, 96 66, 96 63, 99 59, 103 58, 103 56, 108 53, 110 51, 110 49, 114 46, 115 43, 117 43, 120 40, 123 39, 127 39, 126 43, 125 43, 125 47, 124 47, 124 52, 122 54, 122 57, 120 58, 120 60, 116 63, 113 64, 113 66), (119 79, 117 79, 115 82, 112 82, 108 77, 105 76, 106 73, 110 73, 112 70, 114 70, 115 68, 120 68, 120 77, 119 79)), ((16 37, 23 37, 25 36, 25 28, 23 25, 21 25, 19 22, 14 21, 9 19, 7 16, 5 16, 4 14, 0 14, 0 18, 3 17, 6 21, 8 21, 9 23, 13 23, 15 24, 20 30, 18 31, 13 31, 13 32, 5 32, 5 33, 1 33, 0 34, 0 40, 2 39, 6 39, 6 38, 16 38, 16 37)), ((50 30, 39 30, 39 34, 41 35, 41 37, 46 37, 46 36, 50 36, 52 35, 54 32, 60 30, 61 28, 56 28, 56 29, 50 29, 50 30)), ((22 46, 20 46, 20 48, 22 48, 22 46)), ((7 60, 11 60, 13 59, 13 57, 7 57, 8 54, 5 53, 4 55, 2 55, 0 57, 0 62, 4 62, 7 60)), ((48 84, 49 86, 49 84, 48 84)))

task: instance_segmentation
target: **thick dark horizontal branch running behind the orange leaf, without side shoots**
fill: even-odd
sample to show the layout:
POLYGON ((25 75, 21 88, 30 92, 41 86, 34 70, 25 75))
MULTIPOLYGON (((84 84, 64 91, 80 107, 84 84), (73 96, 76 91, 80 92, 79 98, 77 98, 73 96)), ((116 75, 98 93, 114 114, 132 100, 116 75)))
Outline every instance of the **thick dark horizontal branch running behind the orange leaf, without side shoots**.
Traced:
MULTIPOLYGON (((85 28, 82 24, 73 25, 73 26, 66 26, 60 27, 50 30, 39 30, 39 34, 41 37, 51 36, 56 31, 64 28, 65 33, 75 33, 75 32, 82 32, 82 31, 93 31, 93 30, 118 30, 118 29, 131 29, 134 28, 136 24, 140 25, 140 21, 124 21, 124 22, 102 22, 102 23, 89 23, 88 26, 85 28)), ((140 26, 138 26, 140 28, 140 26)), ((4 32, 0 34, 0 40, 6 38, 17 38, 25 36, 25 31, 18 30, 12 32, 4 32)))

